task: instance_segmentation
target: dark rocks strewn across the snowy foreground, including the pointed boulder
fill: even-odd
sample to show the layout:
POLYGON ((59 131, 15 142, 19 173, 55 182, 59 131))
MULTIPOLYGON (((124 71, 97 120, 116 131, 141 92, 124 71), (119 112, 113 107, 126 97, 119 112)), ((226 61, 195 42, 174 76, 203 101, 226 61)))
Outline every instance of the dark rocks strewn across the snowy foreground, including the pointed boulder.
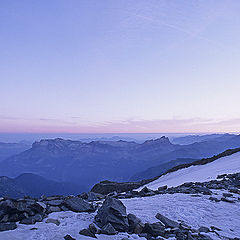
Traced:
MULTIPOLYGON (((169 194, 171 194, 172 198, 176 194, 187 194, 196 199, 195 201, 201 196, 205 196, 209 204, 223 202, 229 204, 229 206, 234 206, 240 202, 240 173, 221 175, 218 176, 217 180, 204 183, 191 182, 173 188, 162 186, 155 191, 145 187, 141 191, 112 192, 107 195, 89 192, 68 197, 42 196, 39 199, 30 197, 17 200, 1 198, 0 231, 14 230, 21 225, 32 225, 43 221, 61 227, 61 220, 49 218, 48 215, 51 215, 51 213, 72 211, 94 214, 92 222, 88 226, 84 226, 78 230, 79 236, 88 236, 90 238, 99 238, 103 234, 111 236, 123 232, 127 233, 128 236, 138 235, 145 239, 208 240, 212 239, 211 236, 215 236, 214 239, 218 239, 216 238, 217 236, 219 236, 219 239, 240 239, 237 238, 239 236, 235 238, 222 238, 219 226, 212 225, 209 227, 201 226, 193 228, 184 221, 173 221, 166 217, 161 212, 161 209, 155 214, 155 222, 145 222, 134 213, 128 212, 127 214, 126 207, 123 204, 126 201, 124 199, 147 200, 152 196, 158 197, 169 194)), ((175 207, 177 206, 172 206, 172 208, 175 207)), ((31 229, 35 229, 34 225, 31 229)), ((75 239, 70 233, 66 234, 64 238, 66 240, 75 239)))

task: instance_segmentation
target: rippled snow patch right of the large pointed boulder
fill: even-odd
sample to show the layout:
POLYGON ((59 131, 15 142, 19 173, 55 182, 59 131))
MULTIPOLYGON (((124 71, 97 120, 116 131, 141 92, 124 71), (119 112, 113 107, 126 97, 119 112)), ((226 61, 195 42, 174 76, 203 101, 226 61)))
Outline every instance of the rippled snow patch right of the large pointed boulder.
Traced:
MULTIPOLYGON (((215 191, 214 196, 220 197, 224 191, 215 191)), ((234 195, 236 198, 238 194, 234 195)), ((240 237, 240 202, 234 204, 227 202, 215 203, 209 196, 194 197, 189 194, 162 194, 152 197, 132 198, 123 200, 129 213, 134 213, 144 222, 156 222, 156 214, 160 212, 172 220, 181 220, 187 225, 197 229, 201 226, 215 226, 221 229, 223 237, 240 237)), ((215 234, 209 234, 214 239, 215 234)))

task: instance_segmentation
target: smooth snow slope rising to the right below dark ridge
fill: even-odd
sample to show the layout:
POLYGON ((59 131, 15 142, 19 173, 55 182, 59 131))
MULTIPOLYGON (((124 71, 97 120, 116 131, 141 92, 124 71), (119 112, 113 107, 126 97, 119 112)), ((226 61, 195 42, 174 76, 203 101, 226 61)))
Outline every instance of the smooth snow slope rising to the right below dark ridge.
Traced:
POLYGON ((206 182, 216 179, 217 175, 236 172, 240 172, 240 152, 219 158, 205 165, 191 166, 168 173, 145 186, 156 190, 164 185, 175 187, 185 182, 206 182))

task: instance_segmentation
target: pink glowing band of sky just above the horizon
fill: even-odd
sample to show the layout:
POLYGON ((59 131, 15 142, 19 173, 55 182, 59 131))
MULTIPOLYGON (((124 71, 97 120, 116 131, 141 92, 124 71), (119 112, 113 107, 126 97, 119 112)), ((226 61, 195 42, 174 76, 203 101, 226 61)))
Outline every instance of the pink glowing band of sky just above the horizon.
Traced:
POLYGON ((207 133, 239 132, 240 119, 231 120, 130 120, 99 124, 62 124, 38 122, 0 122, 0 132, 5 133, 207 133))

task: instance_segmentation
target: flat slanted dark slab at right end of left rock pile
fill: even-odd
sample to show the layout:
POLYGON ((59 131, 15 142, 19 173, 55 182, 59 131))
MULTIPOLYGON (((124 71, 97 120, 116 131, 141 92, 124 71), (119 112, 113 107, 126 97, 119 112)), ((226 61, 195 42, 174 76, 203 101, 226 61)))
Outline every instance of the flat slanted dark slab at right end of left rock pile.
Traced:
POLYGON ((69 198, 65 201, 65 205, 74 212, 93 212, 93 206, 79 197, 69 198))

